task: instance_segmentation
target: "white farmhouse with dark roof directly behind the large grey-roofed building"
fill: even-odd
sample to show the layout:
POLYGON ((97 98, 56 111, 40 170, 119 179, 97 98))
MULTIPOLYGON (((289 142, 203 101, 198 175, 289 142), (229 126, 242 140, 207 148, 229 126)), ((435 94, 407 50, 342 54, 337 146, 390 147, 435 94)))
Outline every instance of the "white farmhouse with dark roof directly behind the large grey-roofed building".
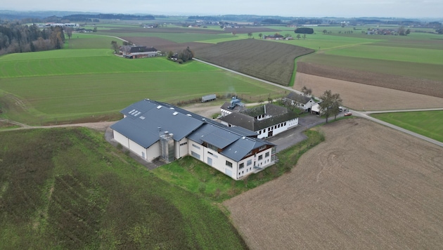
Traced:
POLYGON ((240 126, 257 133, 258 138, 276 136, 298 125, 298 114, 286 107, 266 104, 250 109, 231 112, 220 118, 226 126, 240 126))

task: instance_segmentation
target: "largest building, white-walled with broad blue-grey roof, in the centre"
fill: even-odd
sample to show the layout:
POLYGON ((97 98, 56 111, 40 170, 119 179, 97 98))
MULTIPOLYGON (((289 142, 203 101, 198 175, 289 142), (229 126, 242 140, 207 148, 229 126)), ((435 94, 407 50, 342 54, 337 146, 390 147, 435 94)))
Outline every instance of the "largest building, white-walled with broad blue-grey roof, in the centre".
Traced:
POLYGON ((257 133, 228 127, 168 103, 141 100, 110 126, 114 140, 146 161, 171 162, 186 155, 239 180, 276 161, 276 145, 257 133))

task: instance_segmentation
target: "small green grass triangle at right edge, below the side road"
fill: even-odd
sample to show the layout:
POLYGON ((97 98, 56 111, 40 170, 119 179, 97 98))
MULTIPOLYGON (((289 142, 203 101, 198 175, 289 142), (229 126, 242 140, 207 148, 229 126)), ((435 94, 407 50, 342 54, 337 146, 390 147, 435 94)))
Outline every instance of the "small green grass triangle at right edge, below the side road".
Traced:
POLYGON ((371 114, 371 116, 443 142, 442 110, 371 114))

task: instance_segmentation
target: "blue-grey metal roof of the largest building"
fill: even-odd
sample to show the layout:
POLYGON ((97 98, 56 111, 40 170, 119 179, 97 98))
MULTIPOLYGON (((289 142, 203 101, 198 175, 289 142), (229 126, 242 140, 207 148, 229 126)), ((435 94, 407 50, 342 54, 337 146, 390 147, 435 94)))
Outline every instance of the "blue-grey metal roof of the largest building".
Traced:
POLYGON ((196 143, 210 143, 221 149, 222 155, 237 162, 255 148, 274 145, 255 138, 257 133, 253 131, 229 128, 180 107, 153 100, 129 105, 122 113, 127 117, 117 121, 111 129, 146 148, 160 140, 159 128, 172 133, 174 140, 188 137, 196 143))

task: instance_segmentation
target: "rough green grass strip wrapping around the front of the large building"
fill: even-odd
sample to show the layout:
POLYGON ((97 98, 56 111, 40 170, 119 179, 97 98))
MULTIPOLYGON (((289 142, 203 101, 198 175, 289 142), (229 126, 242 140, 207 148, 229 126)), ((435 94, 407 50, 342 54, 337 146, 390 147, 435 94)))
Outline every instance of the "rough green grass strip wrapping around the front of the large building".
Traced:
POLYGON ((304 152, 325 139, 323 134, 315 129, 310 129, 305 134, 308 137, 307 140, 278 152, 277 164, 259 173, 251 174, 241 181, 233 180, 193 157, 176 160, 152 172, 167 183, 173 183, 196 195, 212 199, 214 202, 222 202, 290 171, 304 152))

